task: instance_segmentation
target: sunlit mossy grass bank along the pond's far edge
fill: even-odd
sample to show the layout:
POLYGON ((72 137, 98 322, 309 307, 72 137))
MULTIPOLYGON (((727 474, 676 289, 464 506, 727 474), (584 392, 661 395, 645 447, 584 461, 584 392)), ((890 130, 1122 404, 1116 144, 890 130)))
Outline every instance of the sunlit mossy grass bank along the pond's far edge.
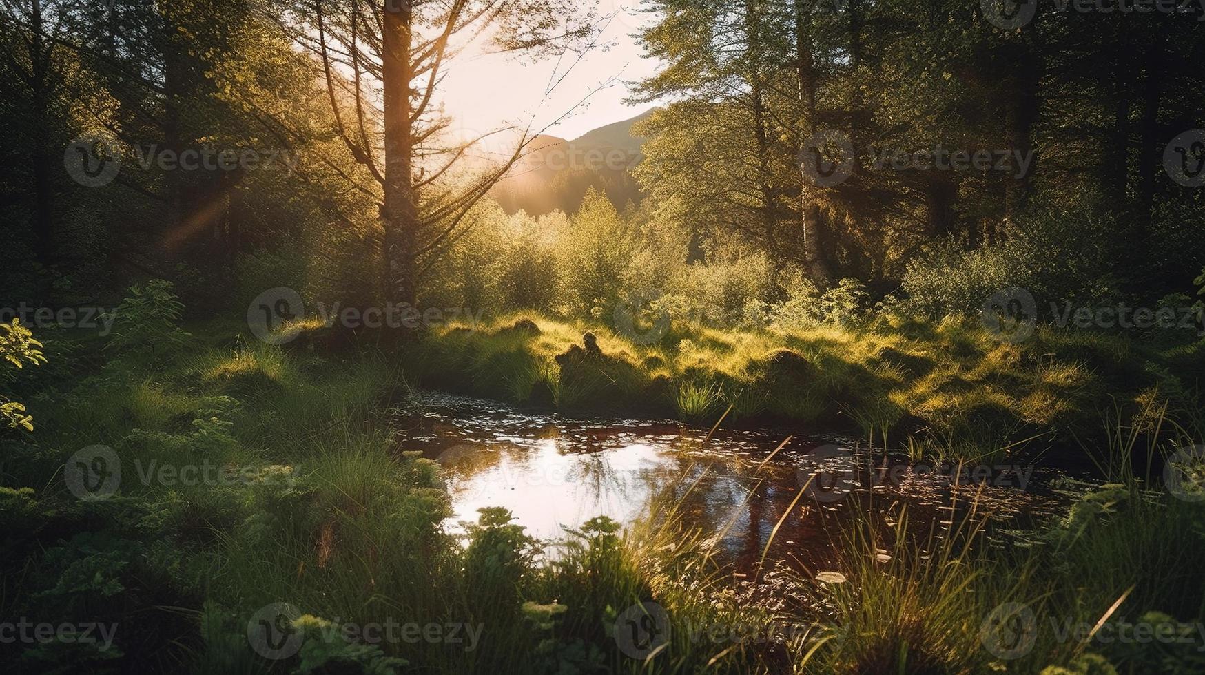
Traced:
POLYGON ((888 315, 781 331, 674 324, 643 345, 606 327, 522 315, 435 330, 406 363, 424 386, 516 404, 683 421, 730 405, 734 422, 844 425, 897 445, 922 433, 957 456, 962 446, 1001 451, 1044 434, 1095 434, 1110 401, 1136 403, 1150 387, 1188 400, 1165 359, 1113 336, 1047 328, 1001 344, 954 318, 888 315), (940 442, 948 438, 971 442, 940 442))

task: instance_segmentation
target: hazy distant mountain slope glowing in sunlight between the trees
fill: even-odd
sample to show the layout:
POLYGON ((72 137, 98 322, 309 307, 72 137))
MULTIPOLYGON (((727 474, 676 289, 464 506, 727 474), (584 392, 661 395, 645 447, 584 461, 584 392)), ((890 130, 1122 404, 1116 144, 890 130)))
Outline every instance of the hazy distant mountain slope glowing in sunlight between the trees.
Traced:
POLYGON ((519 210, 534 216, 557 209, 572 213, 589 188, 605 193, 616 209, 643 199, 631 169, 643 159, 645 139, 631 133, 636 122, 653 111, 616 122, 566 141, 537 136, 523 159, 494 188, 493 195, 507 213, 519 210))

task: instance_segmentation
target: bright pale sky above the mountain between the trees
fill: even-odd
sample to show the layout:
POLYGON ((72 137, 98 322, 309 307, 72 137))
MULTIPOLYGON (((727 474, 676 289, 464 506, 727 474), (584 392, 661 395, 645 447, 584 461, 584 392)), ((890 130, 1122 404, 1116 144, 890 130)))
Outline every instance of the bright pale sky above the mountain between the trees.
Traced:
MULTIPOLYGON (((600 12, 615 13, 607 25, 602 42, 612 42, 607 51, 595 49, 572 68, 569 76, 549 95, 553 74, 570 68, 571 60, 556 59, 531 64, 501 55, 475 55, 469 52, 459 57, 445 81, 445 104, 457 118, 462 137, 475 137, 505 124, 525 127, 529 123, 539 131, 609 78, 621 81, 594 93, 572 117, 548 129, 548 134, 563 139, 577 137, 590 129, 635 117, 652 105, 627 106, 628 87, 623 80, 640 80, 649 75, 656 63, 641 58, 641 49, 628 35, 646 20, 634 11, 637 0, 601 0, 600 12)), ((576 57, 574 57, 576 60, 576 57)))

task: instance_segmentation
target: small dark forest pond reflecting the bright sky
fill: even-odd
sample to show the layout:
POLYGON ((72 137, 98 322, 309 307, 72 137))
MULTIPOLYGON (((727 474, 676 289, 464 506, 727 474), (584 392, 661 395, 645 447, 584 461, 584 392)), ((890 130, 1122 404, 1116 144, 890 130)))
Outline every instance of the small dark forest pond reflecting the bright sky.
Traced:
POLYGON ((941 538, 972 505, 983 527, 1012 528, 1068 500, 1053 469, 913 463, 813 429, 719 429, 707 439, 709 429, 674 421, 580 418, 433 392, 413 394, 395 421, 400 447, 443 466, 452 532, 478 509, 501 506, 552 540, 594 516, 631 523, 669 491, 688 526, 718 536, 722 562, 739 575, 763 552, 766 569, 827 568, 851 518, 870 512, 889 527, 906 510, 909 532, 941 538))

